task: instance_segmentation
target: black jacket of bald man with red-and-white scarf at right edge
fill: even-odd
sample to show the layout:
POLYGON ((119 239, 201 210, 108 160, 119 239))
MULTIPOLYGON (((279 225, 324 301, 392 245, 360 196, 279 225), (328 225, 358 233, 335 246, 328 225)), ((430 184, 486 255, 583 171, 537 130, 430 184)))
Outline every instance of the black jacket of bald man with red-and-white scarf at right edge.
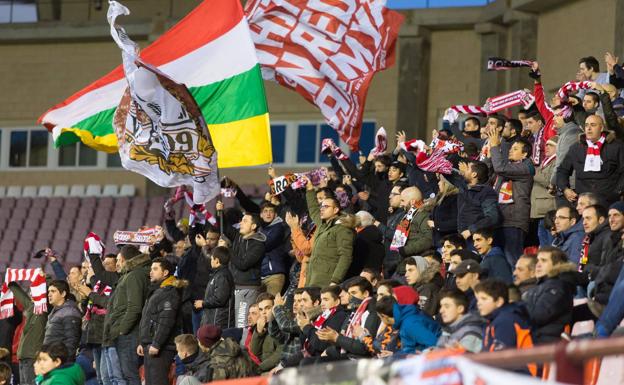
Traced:
POLYGON ((602 161, 600 171, 583 171, 586 156, 586 136, 581 134, 579 141, 570 146, 557 169, 557 187, 562 191, 569 188, 569 178, 572 172, 576 172, 575 191, 578 194, 593 192, 609 205, 617 201, 619 193, 624 188, 624 173, 621 167, 624 164, 624 144, 615 138, 614 132, 606 132, 605 142, 600 150, 602 161))

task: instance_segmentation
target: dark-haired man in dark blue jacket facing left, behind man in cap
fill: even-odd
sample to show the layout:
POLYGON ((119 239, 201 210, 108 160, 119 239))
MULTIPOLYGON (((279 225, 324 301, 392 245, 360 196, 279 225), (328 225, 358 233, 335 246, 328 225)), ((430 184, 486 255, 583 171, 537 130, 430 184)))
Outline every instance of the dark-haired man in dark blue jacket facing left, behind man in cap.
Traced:
POLYGON ((511 267, 500 247, 494 246, 494 233, 490 229, 477 230, 472 235, 475 249, 481 255, 481 268, 488 278, 497 278, 507 284, 513 282, 511 267))

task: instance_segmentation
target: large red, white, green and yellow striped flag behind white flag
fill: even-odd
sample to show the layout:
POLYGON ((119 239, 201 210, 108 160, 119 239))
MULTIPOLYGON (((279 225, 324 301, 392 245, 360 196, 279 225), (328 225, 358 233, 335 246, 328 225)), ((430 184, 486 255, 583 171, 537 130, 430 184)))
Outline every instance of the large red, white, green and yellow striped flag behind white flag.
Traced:
MULTIPOLYGON (((185 84, 210 130, 219 167, 271 162, 269 114, 260 66, 238 0, 206 0, 140 55, 185 84)), ((55 145, 117 152, 113 114, 127 82, 122 66, 39 118, 55 145)))

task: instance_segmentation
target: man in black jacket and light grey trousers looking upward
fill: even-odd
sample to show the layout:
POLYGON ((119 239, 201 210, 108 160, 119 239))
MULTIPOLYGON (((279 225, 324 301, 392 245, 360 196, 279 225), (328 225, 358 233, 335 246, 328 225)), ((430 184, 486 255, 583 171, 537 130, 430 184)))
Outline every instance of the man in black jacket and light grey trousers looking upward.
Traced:
MULTIPOLYGON (((223 210, 223 203, 217 202, 217 210, 223 210)), ((265 255, 266 235, 260 232, 262 220, 257 214, 245 214, 236 230, 229 224, 223 227, 231 242, 230 271, 234 278, 234 319, 237 328, 245 327, 249 306, 256 302, 262 285, 261 267, 265 255)), ((223 242, 219 246, 225 246, 223 242)))

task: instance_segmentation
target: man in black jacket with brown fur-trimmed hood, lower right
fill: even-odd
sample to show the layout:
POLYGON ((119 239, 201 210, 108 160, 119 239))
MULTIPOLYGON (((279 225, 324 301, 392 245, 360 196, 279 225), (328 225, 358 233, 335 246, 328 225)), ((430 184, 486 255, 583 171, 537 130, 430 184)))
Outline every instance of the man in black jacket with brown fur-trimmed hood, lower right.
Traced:
POLYGON ((572 330, 576 292, 576 266, 565 253, 553 246, 540 248, 535 276, 537 286, 527 291, 526 303, 536 344, 556 342, 561 333, 572 330))

